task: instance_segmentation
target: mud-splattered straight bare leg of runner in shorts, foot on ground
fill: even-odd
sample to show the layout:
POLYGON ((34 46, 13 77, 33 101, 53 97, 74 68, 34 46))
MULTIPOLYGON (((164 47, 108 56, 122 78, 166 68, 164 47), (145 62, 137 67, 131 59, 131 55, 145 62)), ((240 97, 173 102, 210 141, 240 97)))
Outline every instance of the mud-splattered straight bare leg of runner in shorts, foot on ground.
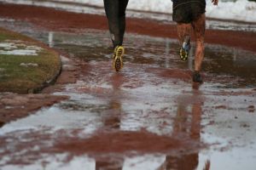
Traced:
POLYGON ((196 49, 195 49, 195 71, 201 71, 201 64, 204 59, 205 47, 205 31, 206 31, 206 15, 201 16, 192 22, 195 32, 196 49))

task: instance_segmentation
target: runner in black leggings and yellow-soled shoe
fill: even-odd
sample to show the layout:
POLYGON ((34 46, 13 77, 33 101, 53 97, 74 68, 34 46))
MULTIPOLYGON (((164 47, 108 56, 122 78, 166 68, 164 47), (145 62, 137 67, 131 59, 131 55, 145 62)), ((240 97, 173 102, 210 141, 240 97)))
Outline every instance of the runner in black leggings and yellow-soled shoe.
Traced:
POLYGON ((113 42, 113 68, 119 71, 123 67, 125 48, 122 46, 125 35, 125 9, 129 0, 104 0, 108 27, 113 42))

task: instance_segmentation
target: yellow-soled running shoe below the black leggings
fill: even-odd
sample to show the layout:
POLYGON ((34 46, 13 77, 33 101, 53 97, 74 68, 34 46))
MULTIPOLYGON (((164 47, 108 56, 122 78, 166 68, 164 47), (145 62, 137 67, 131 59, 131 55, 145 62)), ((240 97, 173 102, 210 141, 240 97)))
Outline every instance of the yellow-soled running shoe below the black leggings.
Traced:
POLYGON ((125 48, 123 46, 117 46, 113 50, 113 69, 115 71, 119 71, 122 69, 123 63, 123 55, 125 54, 125 48))

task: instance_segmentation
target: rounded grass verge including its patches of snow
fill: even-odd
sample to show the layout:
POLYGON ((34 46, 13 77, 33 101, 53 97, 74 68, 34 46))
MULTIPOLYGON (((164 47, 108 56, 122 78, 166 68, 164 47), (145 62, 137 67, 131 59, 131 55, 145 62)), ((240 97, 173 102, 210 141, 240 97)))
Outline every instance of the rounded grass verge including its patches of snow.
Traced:
POLYGON ((38 93, 60 71, 61 59, 54 50, 0 28, 0 92, 38 93))

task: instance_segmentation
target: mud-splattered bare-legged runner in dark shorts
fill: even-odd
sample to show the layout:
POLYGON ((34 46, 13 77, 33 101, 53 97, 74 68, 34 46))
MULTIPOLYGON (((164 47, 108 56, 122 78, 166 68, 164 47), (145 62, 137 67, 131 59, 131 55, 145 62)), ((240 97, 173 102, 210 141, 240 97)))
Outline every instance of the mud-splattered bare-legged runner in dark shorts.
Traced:
MULTIPOLYGON (((177 35, 180 45, 180 58, 187 60, 190 48, 191 26, 195 33, 195 71, 193 82, 202 82, 201 63, 204 58, 204 37, 206 29, 206 0, 172 0, 172 19, 177 22, 177 35)), ((214 5, 218 0, 212 0, 214 5)))

